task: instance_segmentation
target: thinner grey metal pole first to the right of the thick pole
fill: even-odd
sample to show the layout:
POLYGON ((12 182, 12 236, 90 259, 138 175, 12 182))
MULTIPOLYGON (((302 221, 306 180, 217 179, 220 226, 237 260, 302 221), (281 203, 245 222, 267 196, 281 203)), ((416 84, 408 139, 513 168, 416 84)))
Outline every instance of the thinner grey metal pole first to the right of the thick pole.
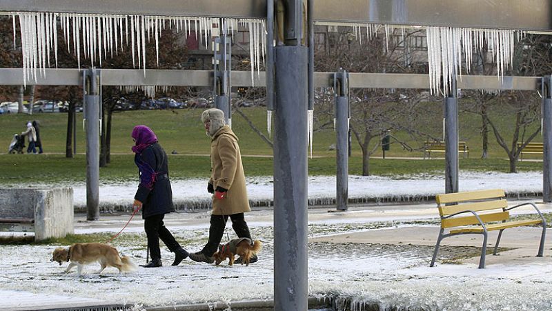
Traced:
POLYGON ((335 178, 337 210, 347 210, 348 203, 348 74, 340 70, 335 74, 335 134, 337 135, 335 178))

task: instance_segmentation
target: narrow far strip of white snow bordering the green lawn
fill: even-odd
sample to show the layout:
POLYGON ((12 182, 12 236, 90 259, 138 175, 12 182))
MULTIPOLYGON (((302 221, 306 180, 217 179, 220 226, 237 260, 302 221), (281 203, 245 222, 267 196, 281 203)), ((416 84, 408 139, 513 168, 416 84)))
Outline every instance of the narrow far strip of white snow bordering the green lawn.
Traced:
MULTIPOLYGON (((171 181, 173 199, 177 205, 208 205, 206 179, 171 181)), ((542 172, 506 174, 497 172, 460 172, 460 191, 501 188, 506 193, 539 194, 542 192, 542 172)), ((52 186, 52 185, 48 185, 52 186)), ((75 205, 86 206, 86 184, 70 185, 74 190, 75 205)), ((130 209, 137 183, 106 183, 100 187, 101 205, 127 206, 130 209)), ((249 199, 258 202, 273 200, 272 177, 249 177, 247 179, 249 199)), ((371 201, 413 201, 416 198, 431 197, 444 193, 444 177, 438 175, 417 175, 412 177, 361 177, 350 176, 348 196, 350 199, 372 199, 371 201)), ((335 177, 309 177, 308 198, 315 204, 331 203, 335 199, 335 177)))

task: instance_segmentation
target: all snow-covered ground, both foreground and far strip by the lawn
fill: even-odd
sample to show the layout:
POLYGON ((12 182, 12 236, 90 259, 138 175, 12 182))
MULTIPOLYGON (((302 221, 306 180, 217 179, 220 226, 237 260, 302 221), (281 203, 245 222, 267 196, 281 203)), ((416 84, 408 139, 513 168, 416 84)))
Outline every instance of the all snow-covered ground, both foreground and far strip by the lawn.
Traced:
MULTIPOLYGON (((172 181, 175 200, 208 200, 204 180, 172 181)), ((250 198, 271 200, 273 183, 270 178, 248 179, 250 198)), ((56 185, 53 185, 56 186, 56 185)), ((75 201, 83 202, 86 190, 74 185, 75 201)), ((537 193, 542 191, 542 174, 462 173, 460 190, 503 188, 506 192, 537 193)), ((102 185, 101 201, 126 203, 132 200, 135 184, 102 185)), ((417 177, 394 180, 382 177, 351 177, 350 197, 415 196, 444 192, 442 177, 417 177)), ((326 197, 335 193, 335 179, 310 177, 309 198, 326 197)), ((380 207, 386 209, 387 207, 380 207)), ((388 209, 400 210, 390 205, 388 209)), ((375 228, 373 208, 357 208, 354 221, 336 215, 332 220, 310 222, 309 237, 343 232, 359 232, 375 228)), ((377 212, 377 211, 375 211, 377 212)), ((550 208, 548 209, 550 212, 550 208)), ((251 214, 263 212, 253 212, 251 214)), ((264 211, 270 217, 270 211, 264 211)), ((324 211, 325 214, 328 214, 324 211)), ((188 250, 197 251, 207 237, 206 213, 174 214, 170 225, 183 217, 182 223, 196 225, 170 226, 177 240, 187 241, 188 250), (199 215, 201 214, 201 215, 199 215)), ((268 216, 267 216, 268 215, 268 216)), ((413 215, 426 218, 426 215, 413 215)), ((108 222, 108 217, 104 217, 108 222)), ((260 219, 260 218, 259 218, 260 219)), ((391 220, 391 219, 388 219, 391 220)), ((139 220, 138 220, 139 221, 139 220)), ((377 220, 377 227, 382 223, 377 220)), ((408 225, 388 223, 388 226, 408 225)), ((219 266, 195 263, 186 259, 177 267, 170 266, 172 254, 162 248, 164 266, 156 269, 141 268, 135 272, 118 274, 106 269, 94 274, 98 265, 85 268, 85 275, 65 274, 63 266, 50 262, 54 245, 3 245, 0 248, 0 301, 10 301, 9 293, 2 290, 102 299, 147 306, 177 305, 184 303, 218 303, 250 299, 273 299, 273 228, 268 221, 252 221, 253 236, 264 242, 259 262, 246 267, 226 263, 219 266)), ((114 221, 106 227, 98 226, 77 232, 117 232, 121 223, 114 221)), ((141 234, 142 243, 132 245, 115 240, 119 252, 137 263, 145 261, 145 236, 140 227, 129 228, 124 234, 141 234)), ((231 230, 230 230, 230 234, 231 230)), ((226 236, 225 238, 226 239, 226 236)), ((423 310, 552 310, 552 261, 545 264, 489 265, 477 269, 477 263, 446 264, 444 259, 457 258, 458 254, 475 250, 474 247, 443 246, 437 268, 428 268, 433 252, 432 245, 370 244, 370 243, 309 243, 308 292, 312 297, 332 297, 359 308, 362 304, 378 303, 382 307, 421 308, 423 310)), ((550 255, 546 245, 545 255, 550 255)), ((477 253, 477 251, 476 251, 477 253)), ((551 257, 546 257, 549 260, 551 257)), ((12 303, 14 301, 11 301, 12 303)), ((360 310, 360 309, 358 309, 360 310)))

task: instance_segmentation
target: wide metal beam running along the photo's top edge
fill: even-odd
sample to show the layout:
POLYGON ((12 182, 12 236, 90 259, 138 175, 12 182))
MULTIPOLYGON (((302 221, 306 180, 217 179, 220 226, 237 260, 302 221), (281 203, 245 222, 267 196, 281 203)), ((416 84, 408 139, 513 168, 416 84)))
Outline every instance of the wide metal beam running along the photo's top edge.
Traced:
MULTIPOLYGON (((0 0, 4 12, 69 12, 266 19, 266 0, 0 0)), ((552 31, 549 0, 317 0, 317 23, 384 23, 552 31)))

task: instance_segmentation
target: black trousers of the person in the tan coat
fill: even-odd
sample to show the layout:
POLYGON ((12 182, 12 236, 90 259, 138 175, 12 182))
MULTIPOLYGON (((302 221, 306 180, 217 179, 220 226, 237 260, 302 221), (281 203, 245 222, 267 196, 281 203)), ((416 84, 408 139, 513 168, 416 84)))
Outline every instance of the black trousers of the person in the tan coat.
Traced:
POLYGON ((244 213, 233 215, 211 215, 209 241, 204 246, 203 250, 201 250, 202 253, 207 256, 213 256, 213 254, 217 252, 219 243, 224 235, 224 228, 226 228, 226 221, 228 221, 228 217, 230 217, 230 220, 232 221, 232 228, 236 232, 237 237, 251 239, 249 227, 244 219, 244 213))

